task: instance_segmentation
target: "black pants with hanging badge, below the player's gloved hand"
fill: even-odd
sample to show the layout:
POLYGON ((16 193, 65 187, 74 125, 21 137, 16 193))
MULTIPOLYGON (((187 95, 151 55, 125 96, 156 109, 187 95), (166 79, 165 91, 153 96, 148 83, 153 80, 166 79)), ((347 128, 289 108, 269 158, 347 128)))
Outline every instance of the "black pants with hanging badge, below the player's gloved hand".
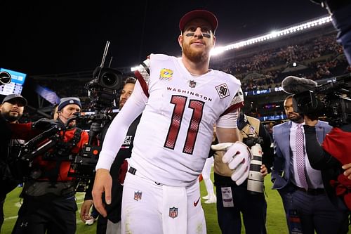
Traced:
POLYGON ((217 194, 218 224, 223 234, 241 233, 241 214, 244 220, 246 234, 265 234, 265 219, 267 203, 263 193, 253 194, 245 185, 237 186, 230 183, 215 181, 217 194), (222 188, 230 187, 232 190, 232 207, 223 207, 222 188), (240 214, 241 213, 241 214, 240 214))

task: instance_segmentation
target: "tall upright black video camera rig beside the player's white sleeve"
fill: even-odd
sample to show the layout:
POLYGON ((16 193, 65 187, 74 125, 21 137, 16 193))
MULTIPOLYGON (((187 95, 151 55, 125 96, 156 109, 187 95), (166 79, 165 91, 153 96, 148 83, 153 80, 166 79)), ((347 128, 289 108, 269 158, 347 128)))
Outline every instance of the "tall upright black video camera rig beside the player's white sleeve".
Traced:
MULTIPOLYGON (((121 72, 110 68, 111 62, 109 67, 104 67, 109 45, 110 41, 107 41, 101 65, 95 68, 93 79, 85 85, 85 88, 88 89, 88 98, 91 100, 89 108, 93 114, 79 115, 77 113, 78 126, 97 123, 102 127, 112 121, 112 108, 116 105, 115 99, 117 93, 123 88, 124 80, 121 72)), ((84 145, 83 150, 72 161, 72 170, 69 170, 68 176, 79 178, 77 191, 86 190, 89 180, 95 174, 95 166, 101 151, 100 146, 93 145, 93 139, 96 136, 101 140, 100 133, 91 129, 88 144, 84 145)))

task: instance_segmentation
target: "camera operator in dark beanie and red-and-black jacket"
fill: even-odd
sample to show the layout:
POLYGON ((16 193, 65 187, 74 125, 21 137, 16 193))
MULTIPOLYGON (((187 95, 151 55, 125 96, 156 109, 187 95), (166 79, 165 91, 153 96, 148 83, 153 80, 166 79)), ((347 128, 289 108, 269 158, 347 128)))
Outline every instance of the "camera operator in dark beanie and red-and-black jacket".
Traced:
MULTIPOLYGON (((76 127, 74 113, 81 111, 79 98, 61 98, 58 121, 39 119, 28 124, 11 124, 14 136, 26 140, 51 126, 60 126, 58 141, 43 155, 30 162, 31 167, 20 197, 23 203, 13 233, 75 233, 77 204, 74 178, 68 177, 72 157, 88 143, 88 133, 76 127)), ((49 142, 43 139, 39 147, 49 142)))

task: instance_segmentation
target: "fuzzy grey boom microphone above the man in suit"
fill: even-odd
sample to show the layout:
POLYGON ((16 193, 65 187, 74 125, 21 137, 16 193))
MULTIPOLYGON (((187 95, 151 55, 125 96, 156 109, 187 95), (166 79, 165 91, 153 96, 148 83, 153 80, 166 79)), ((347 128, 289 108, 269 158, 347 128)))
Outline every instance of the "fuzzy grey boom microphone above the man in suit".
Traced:
POLYGON ((289 94, 302 93, 303 91, 313 91, 317 87, 317 82, 312 79, 301 77, 285 77, 282 81, 282 89, 289 94))

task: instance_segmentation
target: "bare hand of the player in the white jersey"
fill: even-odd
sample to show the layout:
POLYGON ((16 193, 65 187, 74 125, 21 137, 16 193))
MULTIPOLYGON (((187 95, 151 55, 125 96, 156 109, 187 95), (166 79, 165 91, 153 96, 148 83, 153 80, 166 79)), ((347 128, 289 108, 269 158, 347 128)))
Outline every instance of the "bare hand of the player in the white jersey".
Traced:
POLYGON ((112 177, 110 171, 107 169, 98 169, 95 174, 92 194, 96 210, 104 217, 107 216, 107 212, 102 204, 102 193, 105 192, 106 204, 111 204, 111 188, 112 177))

